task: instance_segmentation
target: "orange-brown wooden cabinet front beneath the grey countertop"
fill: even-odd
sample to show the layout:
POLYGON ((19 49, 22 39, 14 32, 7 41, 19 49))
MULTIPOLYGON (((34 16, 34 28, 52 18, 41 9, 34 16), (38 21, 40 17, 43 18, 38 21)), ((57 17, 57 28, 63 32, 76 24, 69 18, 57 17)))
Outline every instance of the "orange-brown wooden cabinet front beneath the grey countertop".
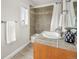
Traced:
POLYGON ((77 59, 75 51, 33 43, 34 59, 77 59))

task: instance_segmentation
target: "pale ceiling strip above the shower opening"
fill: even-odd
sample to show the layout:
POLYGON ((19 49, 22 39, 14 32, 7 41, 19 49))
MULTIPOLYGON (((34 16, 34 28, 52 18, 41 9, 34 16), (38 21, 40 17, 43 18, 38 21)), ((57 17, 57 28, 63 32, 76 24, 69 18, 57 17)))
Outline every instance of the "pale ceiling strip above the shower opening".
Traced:
POLYGON ((33 5, 42 5, 42 4, 49 4, 53 2, 60 2, 61 0, 29 0, 33 5))

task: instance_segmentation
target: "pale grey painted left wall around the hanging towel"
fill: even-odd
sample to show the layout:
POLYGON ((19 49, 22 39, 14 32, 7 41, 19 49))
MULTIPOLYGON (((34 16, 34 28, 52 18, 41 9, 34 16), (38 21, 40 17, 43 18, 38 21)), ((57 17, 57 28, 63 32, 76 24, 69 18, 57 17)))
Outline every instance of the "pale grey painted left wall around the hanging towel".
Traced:
POLYGON ((20 20, 20 7, 28 7, 28 2, 24 0, 2 0, 1 1, 1 20, 9 21, 16 20, 16 42, 11 44, 6 43, 5 23, 1 24, 1 59, 8 56, 16 49, 29 42, 29 27, 21 25, 20 20))

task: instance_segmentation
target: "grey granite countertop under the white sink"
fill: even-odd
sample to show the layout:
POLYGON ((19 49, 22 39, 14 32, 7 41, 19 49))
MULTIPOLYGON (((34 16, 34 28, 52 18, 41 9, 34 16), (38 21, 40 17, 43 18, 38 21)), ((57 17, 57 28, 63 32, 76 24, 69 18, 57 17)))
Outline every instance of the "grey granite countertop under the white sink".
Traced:
POLYGON ((36 43, 40 43, 40 44, 44 44, 44 45, 48 45, 56 48, 62 48, 62 49, 66 49, 74 52, 77 51, 76 45, 67 43, 64 41, 64 39, 49 39, 43 36, 38 36, 37 38, 32 39, 31 42, 32 43, 36 42, 36 43))

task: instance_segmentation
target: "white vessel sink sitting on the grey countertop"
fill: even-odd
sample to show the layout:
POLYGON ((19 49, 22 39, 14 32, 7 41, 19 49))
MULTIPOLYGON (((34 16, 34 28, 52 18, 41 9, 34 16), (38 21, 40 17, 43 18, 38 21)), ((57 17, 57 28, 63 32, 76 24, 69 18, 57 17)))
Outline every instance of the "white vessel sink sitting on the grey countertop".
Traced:
POLYGON ((49 38, 49 39, 60 39, 61 35, 57 32, 49 32, 49 31, 43 31, 40 33, 43 37, 49 38))

